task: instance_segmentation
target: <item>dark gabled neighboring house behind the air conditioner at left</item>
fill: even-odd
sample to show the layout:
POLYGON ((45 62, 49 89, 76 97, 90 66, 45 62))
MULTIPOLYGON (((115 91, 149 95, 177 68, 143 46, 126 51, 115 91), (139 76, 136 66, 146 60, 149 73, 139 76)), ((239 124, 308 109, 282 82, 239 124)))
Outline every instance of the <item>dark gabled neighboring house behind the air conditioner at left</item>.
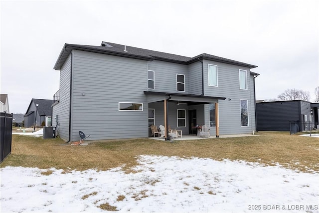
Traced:
POLYGON ((51 126, 52 125, 52 100, 32 98, 24 115, 24 127, 51 126), (38 106, 36 106, 38 105, 38 106), (36 119, 35 119, 36 114, 36 119))

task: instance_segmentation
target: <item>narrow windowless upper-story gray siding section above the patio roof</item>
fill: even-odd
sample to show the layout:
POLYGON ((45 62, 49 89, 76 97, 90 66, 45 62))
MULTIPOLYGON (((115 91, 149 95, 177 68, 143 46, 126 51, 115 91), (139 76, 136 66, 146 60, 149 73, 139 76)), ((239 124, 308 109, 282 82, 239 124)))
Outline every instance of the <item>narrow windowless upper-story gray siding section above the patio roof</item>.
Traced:
POLYGON ((188 65, 188 92, 189 94, 202 94, 202 71, 201 62, 188 65))

